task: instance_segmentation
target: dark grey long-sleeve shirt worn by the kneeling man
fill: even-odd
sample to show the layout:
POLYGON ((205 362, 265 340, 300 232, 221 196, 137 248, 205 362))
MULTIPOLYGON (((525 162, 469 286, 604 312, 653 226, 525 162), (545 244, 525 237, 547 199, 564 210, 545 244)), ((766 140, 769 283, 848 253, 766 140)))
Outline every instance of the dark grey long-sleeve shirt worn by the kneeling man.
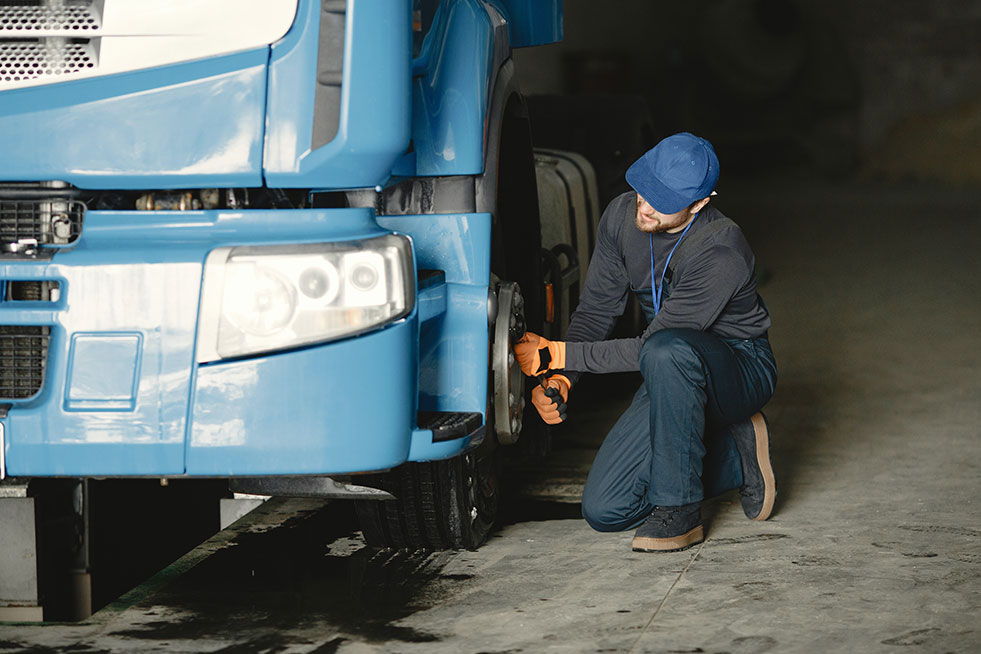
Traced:
POLYGON ((638 370, 644 341, 654 332, 672 327, 706 331, 721 338, 765 335, 770 316, 756 292, 755 258, 749 243, 735 223, 706 206, 684 236, 692 243, 685 248, 679 246, 671 259, 661 309, 644 333, 635 338, 605 340, 623 314, 631 291, 637 294, 649 317, 653 314, 652 251, 653 275, 660 286, 665 260, 682 236, 661 232, 652 237, 637 229, 636 198, 632 191, 616 197, 600 219, 586 284, 566 332, 566 370, 638 370), (697 236, 719 220, 726 221, 725 225, 697 236))

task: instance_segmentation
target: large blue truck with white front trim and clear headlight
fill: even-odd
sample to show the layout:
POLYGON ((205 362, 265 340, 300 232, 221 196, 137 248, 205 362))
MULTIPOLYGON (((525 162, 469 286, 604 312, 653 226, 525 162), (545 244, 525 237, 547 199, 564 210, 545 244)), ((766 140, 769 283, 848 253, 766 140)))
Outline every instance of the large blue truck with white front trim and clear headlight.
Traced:
POLYGON ((561 36, 561 0, 0 3, 5 483, 228 478, 479 545, 546 312, 511 49, 561 36))

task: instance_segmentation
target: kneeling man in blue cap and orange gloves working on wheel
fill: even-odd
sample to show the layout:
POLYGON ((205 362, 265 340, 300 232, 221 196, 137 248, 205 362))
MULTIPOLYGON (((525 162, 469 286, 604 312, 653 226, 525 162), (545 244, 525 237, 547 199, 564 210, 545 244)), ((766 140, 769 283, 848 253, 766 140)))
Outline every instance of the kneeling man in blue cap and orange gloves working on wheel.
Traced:
POLYGON ((515 354, 540 385, 545 422, 565 420, 579 373, 639 370, 644 383, 607 434, 583 491, 599 531, 637 528, 637 551, 704 540, 701 501, 740 488, 747 517, 765 520, 776 481, 767 423, 776 365, 770 316, 739 227, 708 206, 719 179, 712 145, 670 136, 627 170, 633 192, 600 220, 596 249, 566 341, 526 334, 515 354), (650 321, 637 338, 606 340, 633 291, 650 321))

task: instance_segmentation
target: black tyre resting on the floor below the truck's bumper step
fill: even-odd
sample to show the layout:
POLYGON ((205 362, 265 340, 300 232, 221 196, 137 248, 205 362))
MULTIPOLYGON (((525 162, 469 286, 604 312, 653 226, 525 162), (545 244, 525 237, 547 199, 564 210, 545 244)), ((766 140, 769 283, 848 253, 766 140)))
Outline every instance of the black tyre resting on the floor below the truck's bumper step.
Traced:
POLYGON ((396 549, 476 549, 497 516, 497 482, 497 450, 483 447, 372 475, 366 485, 397 499, 355 502, 364 539, 396 549))

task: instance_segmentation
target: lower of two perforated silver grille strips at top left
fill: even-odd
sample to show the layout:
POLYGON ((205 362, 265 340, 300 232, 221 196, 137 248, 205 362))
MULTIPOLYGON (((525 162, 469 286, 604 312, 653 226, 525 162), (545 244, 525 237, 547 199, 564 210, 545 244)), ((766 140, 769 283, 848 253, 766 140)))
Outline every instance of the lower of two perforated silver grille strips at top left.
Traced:
POLYGON ((95 65, 95 51, 89 43, 0 42, 0 81, 4 82, 70 75, 95 65))

